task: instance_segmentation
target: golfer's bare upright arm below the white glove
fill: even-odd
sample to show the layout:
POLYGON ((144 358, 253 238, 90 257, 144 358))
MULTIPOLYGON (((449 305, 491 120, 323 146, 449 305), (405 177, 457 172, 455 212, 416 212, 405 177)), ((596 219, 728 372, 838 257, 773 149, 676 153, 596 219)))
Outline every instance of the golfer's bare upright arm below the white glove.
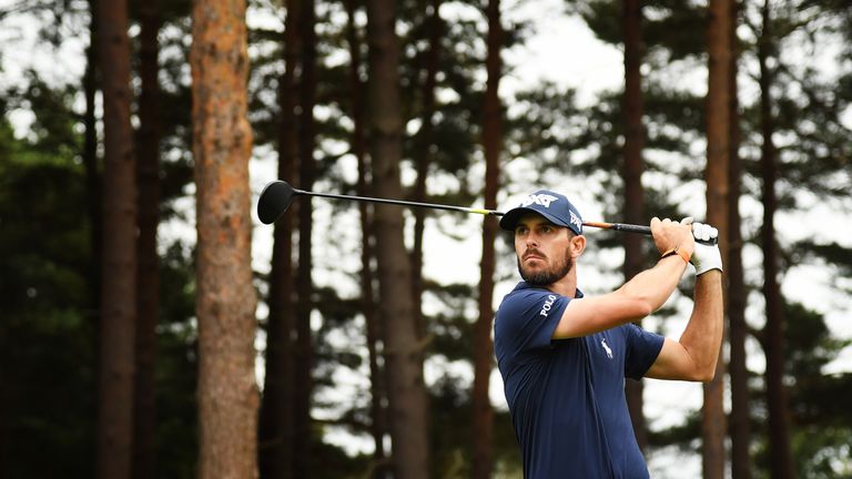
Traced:
POLYGON ((694 305, 687 328, 679 340, 666 339, 647 377, 709 381, 723 332, 722 272, 709 271, 696 278, 694 305))

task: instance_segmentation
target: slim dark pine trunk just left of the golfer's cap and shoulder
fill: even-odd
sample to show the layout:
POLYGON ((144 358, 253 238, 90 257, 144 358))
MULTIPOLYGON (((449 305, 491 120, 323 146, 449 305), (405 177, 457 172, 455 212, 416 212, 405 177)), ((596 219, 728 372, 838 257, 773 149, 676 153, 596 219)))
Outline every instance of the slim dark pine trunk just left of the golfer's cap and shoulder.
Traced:
MULTIPOLYGON (((486 7, 488 20, 488 57, 485 60, 488 79, 483 105, 483 150, 485 151, 485 207, 497 207, 497 190, 500 179, 500 154, 503 153, 503 105, 499 86, 503 77, 503 26, 500 2, 489 0, 486 7)), ((473 463, 474 479, 488 479, 494 469, 494 408, 488 396, 491 369, 494 367, 494 344, 491 324, 494 320, 494 271, 497 221, 485 216, 483 220, 483 257, 479 263, 479 317, 474 325, 474 390, 473 390, 473 463)))

